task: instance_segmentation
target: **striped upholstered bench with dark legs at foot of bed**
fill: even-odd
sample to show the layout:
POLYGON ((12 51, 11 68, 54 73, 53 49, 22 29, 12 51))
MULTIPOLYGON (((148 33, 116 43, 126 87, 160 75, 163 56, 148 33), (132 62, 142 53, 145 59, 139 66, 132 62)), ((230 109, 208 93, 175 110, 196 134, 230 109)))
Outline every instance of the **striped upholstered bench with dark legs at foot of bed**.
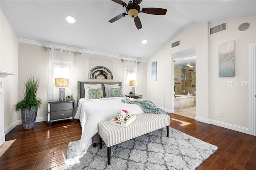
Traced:
POLYGON ((169 126, 170 117, 168 115, 152 113, 136 115, 136 119, 128 127, 111 125, 110 121, 100 122, 98 124, 100 149, 102 148, 103 140, 108 147, 108 164, 110 164, 111 146, 163 127, 167 128, 167 137, 169 137, 169 126))

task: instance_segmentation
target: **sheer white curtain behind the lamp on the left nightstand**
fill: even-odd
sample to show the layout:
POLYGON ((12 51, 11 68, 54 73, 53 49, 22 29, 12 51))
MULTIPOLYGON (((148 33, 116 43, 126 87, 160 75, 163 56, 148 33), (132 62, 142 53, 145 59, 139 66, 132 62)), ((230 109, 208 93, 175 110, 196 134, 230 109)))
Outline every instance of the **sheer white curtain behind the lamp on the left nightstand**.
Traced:
POLYGON ((49 50, 49 75, 48 75, 48 93, 47 101, 59 99, 59 88, 55 87, 55 78, 68 79, 68 87, 65 88, 65 97, 72 95, 71 80, 72 80, 72 61, 73 54, 63 51, 49 50))

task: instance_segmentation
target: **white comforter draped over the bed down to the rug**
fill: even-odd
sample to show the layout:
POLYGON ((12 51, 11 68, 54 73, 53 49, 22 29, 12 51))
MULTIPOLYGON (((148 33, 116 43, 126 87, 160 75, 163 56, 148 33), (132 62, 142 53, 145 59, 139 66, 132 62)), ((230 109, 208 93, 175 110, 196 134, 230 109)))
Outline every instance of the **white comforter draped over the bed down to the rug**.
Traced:
POLYGON ((92 136, 98 132, 99 122, 110 120, 123 109, 131 114, 144 113, 140 106, 124 103, 121 101, 122 98, 124 97, 108 97, 91 100, 81 98, 79 100, 75 115, 75 119, 80 119, 82 127, 78 154, 81 154, 83 150, 87 150, 92 144, 92 136))

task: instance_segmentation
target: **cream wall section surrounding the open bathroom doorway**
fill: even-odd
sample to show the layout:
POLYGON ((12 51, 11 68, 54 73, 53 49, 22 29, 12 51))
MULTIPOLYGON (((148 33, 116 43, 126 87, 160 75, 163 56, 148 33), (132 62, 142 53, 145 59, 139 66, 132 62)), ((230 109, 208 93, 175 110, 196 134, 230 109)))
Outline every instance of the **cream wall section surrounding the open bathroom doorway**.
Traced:
MULTIPOLYGON (((159 107, 164 107, 166 111, 174 113, 174 57, 173 53, 196 47, 196 95, 204 94, 196 99, 196 103, 201 103, 200 108, 196 108, 197 115, 208 118, 208 23, 196 24, 179 34, 171 42, 165 45, 158 53, 148 60, 148 97, 159 107), (180 40, 180 46, 171 48, 171 43, 180 40), (157 61, 156 82, 151 81, 151 63, 157 61), (155 100, 154 100, 155 99, 155 100), (159 100, 159 103, 158 101, 159 100)), ((196 106, 197 107, 197 106, 196 106)))

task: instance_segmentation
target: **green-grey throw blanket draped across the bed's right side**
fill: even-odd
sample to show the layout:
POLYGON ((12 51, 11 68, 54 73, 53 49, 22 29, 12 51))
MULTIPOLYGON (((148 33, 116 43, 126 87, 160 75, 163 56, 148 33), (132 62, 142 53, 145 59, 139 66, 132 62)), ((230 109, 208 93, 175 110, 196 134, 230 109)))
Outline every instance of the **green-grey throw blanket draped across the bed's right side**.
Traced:
POLYGON ((145 113, 156 113, 156 114, 167 115, 166 111, 156 107, 156 105, 152 101, 149 101, 146 99, 136 99, 136 100, 129 101, 129 98, 125 97, 124 99, 122 99, 122 102, 139 105, 145 113))

